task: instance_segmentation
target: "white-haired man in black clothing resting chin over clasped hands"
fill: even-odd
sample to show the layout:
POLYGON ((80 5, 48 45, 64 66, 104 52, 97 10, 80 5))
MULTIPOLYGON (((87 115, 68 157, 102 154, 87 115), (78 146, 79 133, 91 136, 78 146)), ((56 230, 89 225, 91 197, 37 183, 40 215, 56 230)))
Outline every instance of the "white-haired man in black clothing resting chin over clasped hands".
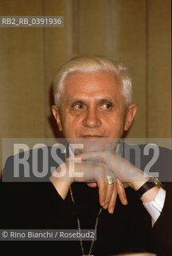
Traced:
MULTIPOLYGON (((49 183, 32 184, 32 193, 25 192, 27 198, 34 197, 23 211, 29 216, 28 223, 18 220, 18 228, 97 231, 96 241, 93 236, 91 242, 84 242, 82 238, 80 242, 58 242, 58 255, 143 251, 170 255, 170 230, 166 230, 164 222, 170 209, 166 187, 163 189, 161 182, 143 173, 144 159, 140 168, 124 159, 125 146, 119 140, 136 114, 137 106, 131 103, 131 98, 127 69, 108 58, 72 58, 58 70, 52 110, 67 141, 65 160, 51 174, 49 183), (97 143, 102 150, 79 150, 77 158, 71 157, 74 150, 68 144, 75 141, 87 145, 97 143), (107 144, 110 149, 105 150, 107 144), (75 163, 76 159, 80 161, 75 163), (65 175, 59 175, 63 166, 65 175), (73 173, 71 166, 75 166, 73 173), (33 206, 39 220, 30 216, 33 206), (153 227, 152 222, 155 222, 153 227), (167 233, 166 241, 161 239, 160 232, 164 236, 167 233)), ((170 153, 166 152, 168 158, 170 153)), ((164 156, 164 152, 161 155, 164 156)), ((160 162, 155 165, 158 170, 160 162)), ((169 166, 166 170, 169 171, 169 166)), ((19 200, 18 209, 20 203, 19 200)), ((10 225, 10 228, 15 226, 10 225)))

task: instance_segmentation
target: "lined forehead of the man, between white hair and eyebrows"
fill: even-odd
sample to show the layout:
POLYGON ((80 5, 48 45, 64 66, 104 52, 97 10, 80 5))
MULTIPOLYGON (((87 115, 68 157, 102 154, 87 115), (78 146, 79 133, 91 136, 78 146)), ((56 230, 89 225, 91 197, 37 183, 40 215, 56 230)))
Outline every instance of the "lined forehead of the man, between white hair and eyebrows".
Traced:
POLYGON ((72 74, 65 82, 65 97, 95 98, 99 96, 122 97, 121 86, 111 73, 72 74))

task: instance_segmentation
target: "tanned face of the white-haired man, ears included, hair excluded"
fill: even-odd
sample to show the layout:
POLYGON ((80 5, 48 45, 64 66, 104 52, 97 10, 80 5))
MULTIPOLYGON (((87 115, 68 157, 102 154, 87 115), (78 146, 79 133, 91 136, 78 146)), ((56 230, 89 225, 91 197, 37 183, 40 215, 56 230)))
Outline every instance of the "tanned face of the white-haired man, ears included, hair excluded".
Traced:
POLYGON ((60 108, 53 106, 65 138, 121 138, 135 116, 126 107, 121 86, 110 73, 72 74, 61 94, 60 108))

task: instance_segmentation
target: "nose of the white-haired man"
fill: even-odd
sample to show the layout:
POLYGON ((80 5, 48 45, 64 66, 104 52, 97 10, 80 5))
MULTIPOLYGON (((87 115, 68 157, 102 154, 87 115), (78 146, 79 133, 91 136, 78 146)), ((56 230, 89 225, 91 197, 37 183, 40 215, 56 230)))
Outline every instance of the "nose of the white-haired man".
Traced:
POLYGON ((93 107, 88 108, 86 115, 83 120, 83 125, 89 128, 100 127, 101 121, 97 110, 93 107))

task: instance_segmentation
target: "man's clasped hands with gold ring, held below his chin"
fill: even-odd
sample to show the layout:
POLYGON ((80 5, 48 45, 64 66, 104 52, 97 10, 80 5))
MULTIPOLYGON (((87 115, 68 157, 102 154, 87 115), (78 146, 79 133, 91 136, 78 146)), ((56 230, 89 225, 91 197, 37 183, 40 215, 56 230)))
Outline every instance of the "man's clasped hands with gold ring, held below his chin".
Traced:
POLYGON ((50 180, 62 198, 65 198, 72 182, 86 182, 88 186, 98 186, 100 205, 112 214, 117 195, 122 204, 127 205, 125 188, 132 187, 131 177, 140 175, 141 172, 114 151, 93 151, 67 158, 66 162, 58 166, 50 180), (114 179, 112 184, 108 184, 108 175, 114 179))

